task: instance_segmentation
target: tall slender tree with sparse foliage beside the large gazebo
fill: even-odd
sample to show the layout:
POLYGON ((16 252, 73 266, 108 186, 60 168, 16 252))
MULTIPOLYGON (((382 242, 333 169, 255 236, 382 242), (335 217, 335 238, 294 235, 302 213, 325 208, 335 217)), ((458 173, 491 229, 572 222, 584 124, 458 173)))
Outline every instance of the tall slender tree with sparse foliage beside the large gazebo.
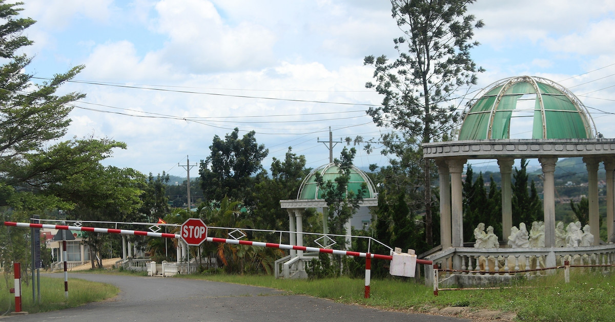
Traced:
MULTIPOLYGON (((375 68, 368 82, 384 99, 367 113, 378 126, 391 126, 427 143, 441 139, 458 115, 454 99, 460 87, 476 84, 483 71, 470 58, 474 28, 483 22, 466 14, 474 0, 392 0, 392 16, 404 35, 394 39, 399 58, 365 57, 375 68)), ((433 244, 431 163, 423 163, 426 241, 433 244)))

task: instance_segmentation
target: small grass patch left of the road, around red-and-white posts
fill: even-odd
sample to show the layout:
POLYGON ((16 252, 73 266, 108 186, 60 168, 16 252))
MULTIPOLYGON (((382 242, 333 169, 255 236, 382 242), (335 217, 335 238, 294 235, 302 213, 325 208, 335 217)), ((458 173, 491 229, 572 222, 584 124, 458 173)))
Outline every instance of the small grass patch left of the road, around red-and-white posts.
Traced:
MULTIPOLYGON (((9 289, 14 287, 12 276, 8 281, 8 288, 5 281, 0 281, 0 315, 15 310, 15 294, 9 293, 9 289)), ((115 297, 118 293, 119 289, 111 284, 69 278, 66 300, 62 278, 41 276, 41 304, 33 304, 32 284, 26 285, 22 280, 22 311, 37 313, 78 307, 115 297)))

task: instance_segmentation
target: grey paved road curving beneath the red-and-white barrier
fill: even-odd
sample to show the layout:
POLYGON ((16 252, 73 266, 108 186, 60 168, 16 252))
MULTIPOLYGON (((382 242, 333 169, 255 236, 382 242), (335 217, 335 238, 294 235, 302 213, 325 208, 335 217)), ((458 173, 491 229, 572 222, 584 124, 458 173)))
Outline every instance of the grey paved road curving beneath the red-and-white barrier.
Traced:
MULTIPOLYGON (((54 275, 52 275, 54 276, 54 275)), ((63 275, 55 275, 61 278, 63 275)), ((446 316, 387 312, 337 304, 255 286, 142 276, 69 273, 69 278, 114 284, 111 301, 57 312, 11 316, 5 321, 470 321, 446 316)), ((70 291, 70 290, 69 290, 70 291)), ((44 299, 43 299, 44 300, 44 299)))

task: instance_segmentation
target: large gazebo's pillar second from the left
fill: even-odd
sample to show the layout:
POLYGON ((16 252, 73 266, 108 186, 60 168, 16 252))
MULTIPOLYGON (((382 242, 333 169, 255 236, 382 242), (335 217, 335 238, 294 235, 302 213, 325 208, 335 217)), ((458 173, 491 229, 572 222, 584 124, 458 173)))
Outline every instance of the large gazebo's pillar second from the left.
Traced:
POLYGON ((461 172, 466 159, 447 159, 451 173, 451 243, 453 247, 463 247, 463 188, 461 172))

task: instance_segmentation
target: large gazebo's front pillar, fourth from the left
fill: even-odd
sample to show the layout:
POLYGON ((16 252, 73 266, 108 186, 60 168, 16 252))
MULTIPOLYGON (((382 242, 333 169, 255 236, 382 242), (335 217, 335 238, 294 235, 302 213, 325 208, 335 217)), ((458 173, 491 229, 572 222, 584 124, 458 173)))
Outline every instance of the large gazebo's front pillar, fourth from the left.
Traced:
POLYGON ((544 206, 544 246, 555 247, 555 163, 557 157, 541 156, 538 161, 544 174, 543 206, 544 206))

